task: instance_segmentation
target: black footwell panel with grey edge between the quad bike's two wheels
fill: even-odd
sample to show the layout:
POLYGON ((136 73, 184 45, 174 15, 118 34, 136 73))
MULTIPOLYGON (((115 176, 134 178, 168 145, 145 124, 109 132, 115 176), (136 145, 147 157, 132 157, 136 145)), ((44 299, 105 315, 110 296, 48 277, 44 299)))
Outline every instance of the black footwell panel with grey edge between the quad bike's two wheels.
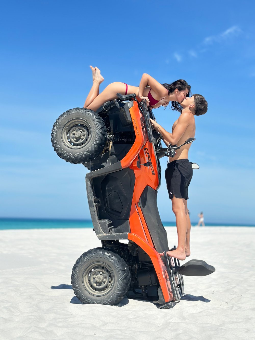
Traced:
POLYGON ((92 223, 100 240, 128 239, 134 171, 120 162, 86 175, 92 223))

